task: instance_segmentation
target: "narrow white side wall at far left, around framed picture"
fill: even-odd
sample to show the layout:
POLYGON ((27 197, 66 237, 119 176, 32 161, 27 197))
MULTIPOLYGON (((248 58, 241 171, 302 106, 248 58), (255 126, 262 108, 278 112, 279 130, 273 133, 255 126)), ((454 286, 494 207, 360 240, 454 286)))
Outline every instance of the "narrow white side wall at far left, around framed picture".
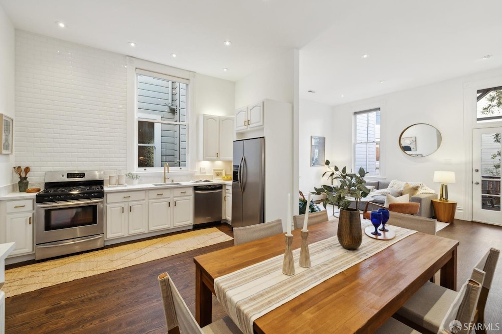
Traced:
MULTIPOLYGON (((0 113, 14 118, 14 26, 0 6, 0 113)), ((16 133, 16 132, 14 132, 16 133)), ((16 142, 16 139, 14 139, 16 142)), ((16 149, 13 154, 0 154, 0 187, 11 185, 14 180, 13 167, 16 149)), ((18 180, 16 180, 18 181, 18 180)), ((7 187, 9 188, 9 187, 7 187)))

